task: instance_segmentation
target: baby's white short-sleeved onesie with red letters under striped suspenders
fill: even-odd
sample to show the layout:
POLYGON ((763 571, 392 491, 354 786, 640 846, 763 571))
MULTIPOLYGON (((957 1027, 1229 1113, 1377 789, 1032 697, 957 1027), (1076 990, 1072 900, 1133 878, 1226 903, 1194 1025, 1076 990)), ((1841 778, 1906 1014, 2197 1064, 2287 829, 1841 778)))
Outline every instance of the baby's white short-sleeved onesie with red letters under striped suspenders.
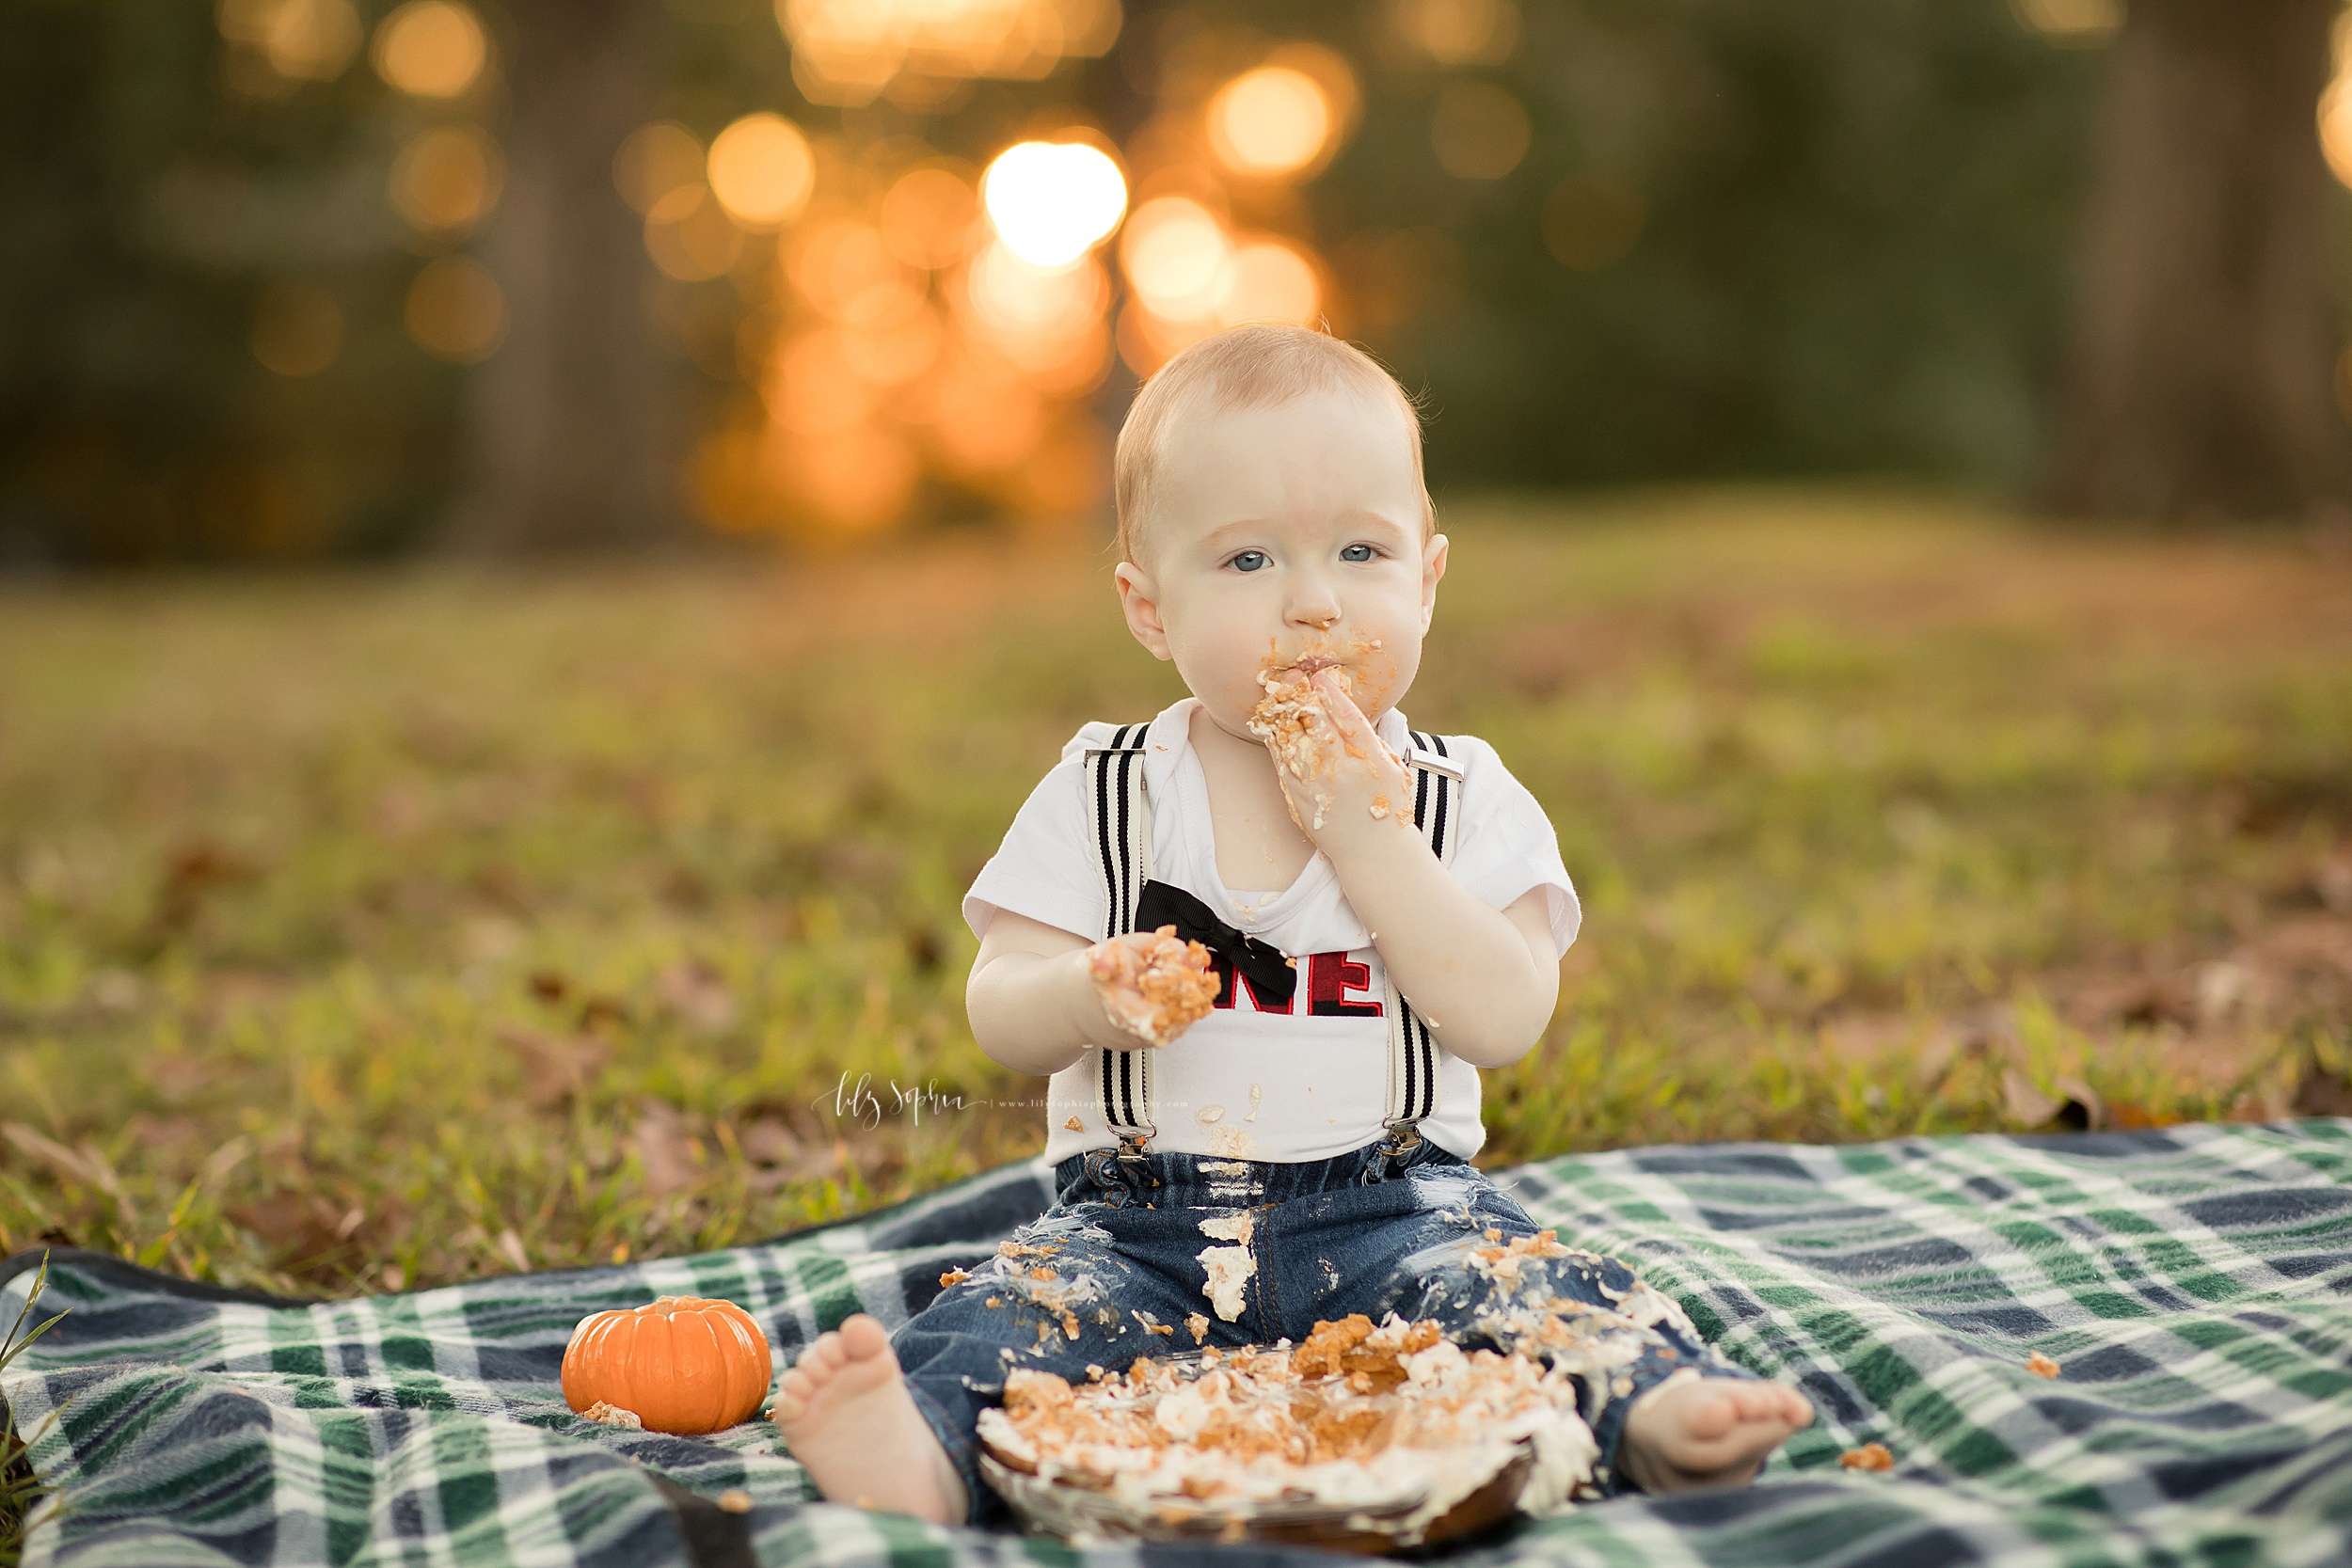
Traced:
MULTIPOLYGON (((1155 1152, 1228 1159, 1329 1159, 1381 1138, 1388 1088, 1385 971, 1371 933, 1348 905, 1317 853, 1298 879, 1240 903, 1216 875, 1209 780, 1192 755, 1192 710, 1183 698, 1152 719, 1143 748, 1143 790, 1152 802, 1152 877, 1192 893, 1216 919, 1272 943, 1298 961, 1287 1006, 1261 1004, 1235 976, 1214 1013, 1152 1058, 1155 1152)), ((997 910, 1098 940, 1108 912, 1089 842, 1087 745, 1103 745, 1110 724, 1089 724, 1061 750, 1061 764, 1030 792, 1004 844, 964 893, 964 922, 988 933, 997 910)), ((1381 738, 1406 750, 1404 715, 1381 719, 1381 738)), ((1446 736, 1463 766, 1461 827, 1449 870, 1496 910, 1529 889, 1545 891, 1559 954, 1576 940, 1576 889, 1559 863, 1552 823, 1510 776, 1494 748, 1446 736)), ((1555 954, 1557 957, 1557 954, 1555 954)), ((1432 1020, 1444 1044, 1444 1020, 1432 1020)), ((1054 1074, 1047 1088, 1047 1159, 1117 1145, 1096 1098, 1096 1053, 1054 1074)), ((1439 1053, 1437 1107, 1421 1133, 1439 1147, 1477 1154, 1477 1070, 1439 1053)))

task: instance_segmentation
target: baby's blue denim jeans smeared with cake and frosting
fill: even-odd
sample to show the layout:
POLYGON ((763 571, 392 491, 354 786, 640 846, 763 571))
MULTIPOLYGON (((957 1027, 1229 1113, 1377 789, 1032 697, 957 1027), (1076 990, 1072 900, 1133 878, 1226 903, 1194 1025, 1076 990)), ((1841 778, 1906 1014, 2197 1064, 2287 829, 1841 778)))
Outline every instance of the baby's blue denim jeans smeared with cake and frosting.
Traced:
POLYGON ((1550 1361, 1562 1340, 1529 1333, 1529 1312, 1552 1316, 1543 1302, 1569 1298, 1602 1314, 1564 1316, 1581 1331, 1571 1366, 1590 1368, 1578 1385, 1602 1493, 1616 1490, 1625 1410, 1644 1392, 1679 1368, 1750 1375, 1613 1258, 1550 1246, 1496 1269, 1498 1241, 1534 1237, 1536 1225, 1484 1171, 1435 1143, 1404 1161, 1364 1147, 1298 1164, 1148 1154, 1141 1168, 1096 1150, 1061 1161, 1054 1178, 1054 1208, 891 1335, 915 1408, 971 1495, 971 1523, 1004 1519, 981 1481, 974 1432, 1011 1366, 1084 1382, 1089 1368, 1122 1371, 1197 1345, 1298 1342, 1319 1319, 1350 1312, 1374 1324, 1388 1312, 1437 1319, 1461 1345, 1550 1361), (1223 1300, 1209 1295, 1207 1248, 1237 1248, 1214 1258, 1223 1300))

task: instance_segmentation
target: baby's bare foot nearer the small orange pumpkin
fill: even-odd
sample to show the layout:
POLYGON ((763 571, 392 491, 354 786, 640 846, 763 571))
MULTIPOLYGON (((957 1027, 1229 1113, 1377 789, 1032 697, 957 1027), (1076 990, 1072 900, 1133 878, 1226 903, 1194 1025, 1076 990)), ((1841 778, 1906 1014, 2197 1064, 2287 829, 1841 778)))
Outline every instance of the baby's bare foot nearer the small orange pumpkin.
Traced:
POLYGON ((816 1335, 776 1385, 767 1418, 826 1502, 964 1523, 964 1479, 908 1396, 877 1319, 858 1312, 816 1335))

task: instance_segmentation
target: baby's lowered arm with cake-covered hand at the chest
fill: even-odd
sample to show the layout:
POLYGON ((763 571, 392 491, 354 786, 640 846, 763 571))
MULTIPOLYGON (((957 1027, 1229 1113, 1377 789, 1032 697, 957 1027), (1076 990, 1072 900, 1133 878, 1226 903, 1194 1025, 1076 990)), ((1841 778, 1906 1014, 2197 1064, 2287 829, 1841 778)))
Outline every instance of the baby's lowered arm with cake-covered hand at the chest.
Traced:
POLYGON ((988 1060, 1051 1077, 1087 1046, 1134 1051, 1176 1039, 1216 994, 1207 961, 1200 943, 1152 931, 1089 945, 1058 926, 997 910, 964 983, 964 1011, 988 1060), (1169 980, 1190 992, 1174 1013, 1164 997, 1169 980), (1131 1027, 1152 1016, 1164 1020, 1162 1039, 1131 1027))

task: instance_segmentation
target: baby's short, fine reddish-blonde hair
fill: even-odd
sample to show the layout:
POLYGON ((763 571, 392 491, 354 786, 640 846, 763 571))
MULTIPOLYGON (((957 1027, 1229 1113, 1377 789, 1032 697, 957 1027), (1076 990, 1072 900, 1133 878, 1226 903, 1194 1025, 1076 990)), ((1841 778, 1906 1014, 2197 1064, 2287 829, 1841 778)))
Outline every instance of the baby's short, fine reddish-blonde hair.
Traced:
POLYGON ((1312 327, 1232 327, 1192 343, 1136 393, 1120 425, 1112 491, 1120 505, 1117 550, 1136 559, 1152 505, 1152 475, 1176 418, 1204 404, 1211 411, 1279 409, 1310 393, 1367 393, 1404 416, 1414 442, 1414 487, 1421 491, 1421 538, 1437 531, 1437 508, 1421 477, 1421 409, 1397 378, 1355 343, 1312 327))

